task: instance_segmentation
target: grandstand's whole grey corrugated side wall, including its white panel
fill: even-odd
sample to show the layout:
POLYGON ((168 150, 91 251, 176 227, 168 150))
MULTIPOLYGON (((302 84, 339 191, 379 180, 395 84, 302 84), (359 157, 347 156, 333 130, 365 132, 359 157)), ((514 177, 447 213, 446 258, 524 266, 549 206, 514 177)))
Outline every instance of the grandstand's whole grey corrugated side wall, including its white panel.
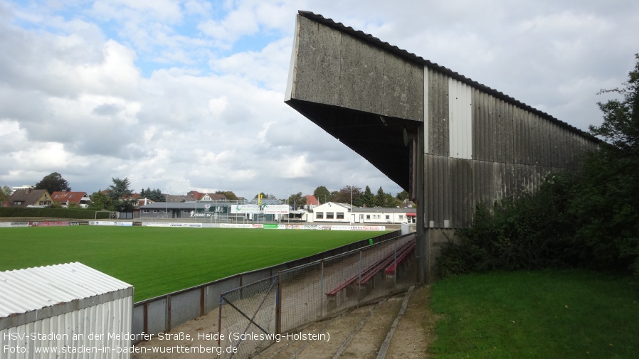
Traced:
POLYGON ((426 227, 465 227, 477 203, 532 191, 548 173, 596 146, 539 114, 436 71, 425 73, 426 227))

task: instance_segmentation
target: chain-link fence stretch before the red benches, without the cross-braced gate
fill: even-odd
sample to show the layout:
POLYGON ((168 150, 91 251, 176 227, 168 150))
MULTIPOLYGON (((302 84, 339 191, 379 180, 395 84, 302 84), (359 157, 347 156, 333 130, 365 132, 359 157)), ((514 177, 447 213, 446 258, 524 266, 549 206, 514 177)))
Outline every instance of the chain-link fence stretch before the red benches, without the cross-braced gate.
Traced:
POLYGON ((280 331, 408 289, 414 243, 406 235, 281 272, 280 331))

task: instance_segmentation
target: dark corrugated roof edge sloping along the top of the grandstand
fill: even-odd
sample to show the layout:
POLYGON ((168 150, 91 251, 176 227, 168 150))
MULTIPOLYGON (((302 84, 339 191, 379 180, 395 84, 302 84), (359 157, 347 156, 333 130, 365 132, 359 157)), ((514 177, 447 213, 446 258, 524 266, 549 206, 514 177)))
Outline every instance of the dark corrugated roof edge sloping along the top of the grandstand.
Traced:
POLYGON ((468 84, 472 87, 475 87, 479 90, 482 90, 483 92, 486 92, 487 94, 490 94, 492 96, 497 97, 500 100, 504 100, 505 102, 509 102, 512 103, 513 105, 516 105, 517 107, 521 107, 523 109, 527 109, 527 111, 532 112, 534 114, 538 114, 539 116, 544 117, 545 119, 549 119, 551 122, 555 122, 556 124, 559 124, 559 126, 564 127, 566 129, 569 129, 572 132, 576 132, 578 134, 581 134, 582 136, 586 136, 588 139, 591 139, 593 141, 596 142, 601 142, 600 139, 597 139, 596 137, 592 136, 591 134, 588 134, 587 132, 583 132, 581 131, 581 129, 578 129, 576 127, 571 126, 570 124, 567 124, 566 122, 560 121, 559 119, 556 119, 555 117, 552 117, 549 114, 546 114, 546 112, 542 112, 539 111, 539 109, 535 109, 534 107, 531 107, 529 105, 524 104, 523 102, 520 102, 519 100, 515 100, 514 98, 505 95, 503 92, 497 91, 495 89, 492 89, 491 87, 488 87, 486 85, 483 85, 479 82, 476 82, 474 80, 471 80, 468 77, 465 77, 464 75, 460 75, 459 73, 454 72, 453 70, 450 70, 449 68, 445 68, 441 65, 438 65, 437 63, 433 63, 430 60, 426 60, 425 58, 422 58, 418 55, 415 55, 414 53, 409 53, 406 50, 402 50, 401 48, 398 48, 395 45, 391 45, 390 43, 386 43, 384 41, 381 41, 379 38, 376 38, 368 33, 364 33, 363 31, 359 31, 359 30, 355 30, 354 28, 350 27, 350 26, 345 26, 343 23, 337 23, 334 20, 332 20, 331 18, 324 18, 324 16, 320 15, 320 14, 315 14, 311 11, 298 11, 298 13, 300 14, 300 16, 304 16, 305 18, 310 18, 313 21, 316 21, 317 23, 322 23, 325 26, 329 26, 330 28, 334 28, 337 31, 342 31, 344 33, 348 33, 351 36, 354 36, 356 38, 361 39, 362 41, 366 41, 367 43, 371 43, 372 45, 375 45, 379 48, 383 48, 384 50, 387 50, 391 53, 394 53, 396 55, 399 55, 403 58, 407 58, 408 60, 411 60, 413 62, 416 63, 420 63, 422 65, 426 65, 429 68, 433 68, 435 70, 438 70, 440 73, 444 73, 445 75, 448 75, 452 78, 454 78, 455 80, 458 80, 460 82, 464 82, 465 84, 468 84))

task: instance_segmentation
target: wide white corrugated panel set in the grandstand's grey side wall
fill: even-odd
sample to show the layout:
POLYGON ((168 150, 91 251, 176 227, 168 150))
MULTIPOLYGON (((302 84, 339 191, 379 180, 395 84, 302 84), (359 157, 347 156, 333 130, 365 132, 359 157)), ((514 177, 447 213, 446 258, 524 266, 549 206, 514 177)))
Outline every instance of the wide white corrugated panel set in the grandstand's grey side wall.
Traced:
POLYGON ((448 77, 449 156, 472 159, 472 92, 463 82, 448 77))

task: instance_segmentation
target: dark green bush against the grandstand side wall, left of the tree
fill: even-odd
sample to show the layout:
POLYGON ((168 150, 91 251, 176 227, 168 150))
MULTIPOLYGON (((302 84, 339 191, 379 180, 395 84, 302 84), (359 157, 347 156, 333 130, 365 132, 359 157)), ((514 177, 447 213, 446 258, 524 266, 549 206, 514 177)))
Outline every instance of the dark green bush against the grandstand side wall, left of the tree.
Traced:
POLYGON ((438 259, 442 277, 493 269, 564 267, 574 227, 567 213, 571 179, 552 175, 534 193, 477 205, 472 226, 457 230, 438 259))

